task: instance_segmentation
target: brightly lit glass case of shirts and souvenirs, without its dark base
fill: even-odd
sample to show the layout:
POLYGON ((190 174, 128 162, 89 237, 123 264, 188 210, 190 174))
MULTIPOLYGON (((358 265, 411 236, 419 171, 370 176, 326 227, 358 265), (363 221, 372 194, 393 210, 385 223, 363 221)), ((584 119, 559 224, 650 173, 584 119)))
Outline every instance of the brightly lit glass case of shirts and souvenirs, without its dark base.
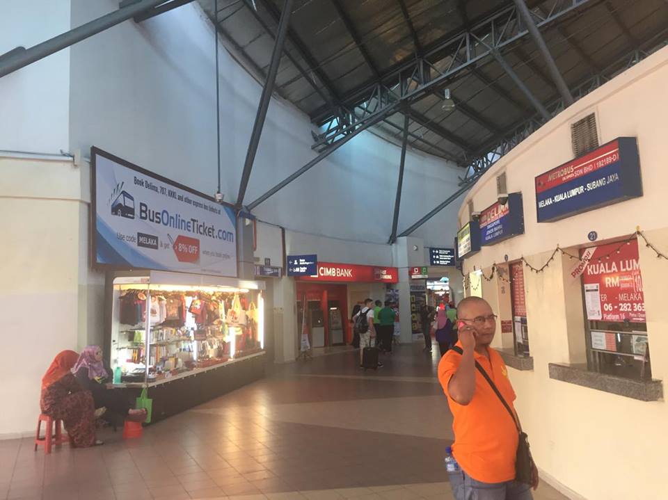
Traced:
POLYGON ((264 350, 262 282, 161 271, 110 280, 114 384, 158 384, 264 350))

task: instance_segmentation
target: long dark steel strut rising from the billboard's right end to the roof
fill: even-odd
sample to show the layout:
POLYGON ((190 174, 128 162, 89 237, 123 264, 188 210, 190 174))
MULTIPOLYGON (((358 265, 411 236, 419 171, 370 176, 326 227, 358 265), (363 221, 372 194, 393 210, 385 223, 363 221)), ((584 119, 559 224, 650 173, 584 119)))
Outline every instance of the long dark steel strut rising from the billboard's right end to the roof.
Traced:
POLYGON ((250 134, 250 141, 248 143, 248 151, 246 152, 246 161, 244 161, 244 172, 241 174, 241 184, 239 185, 239 195, 237 195, 237 207, 241 208, 244 204, 244 196, 246 195, 246 188, 248 188, 248 179, 250 179, 250 171, 253 170, 253 161, 255 161, 255 154, 257 153, 257 145, 260 143, 260 136, 262 136, 262 127, 264 127, 264 120, 267 118, 267 109, 269 109, 269 102, 271 101, 271 93, 273 92, 273 85, 276 83, 276 73, 280 65, 280 57, 283 54, 283 44, 285 43, 285 35, 290 24, 290 15, 292 14, 293 0, 285 0, 283 3, 283 12, 280 13, 280 20, 278 22, 278 32, 276 33, 276 43, 273 45, 273 52, 271 54, 271 63, 269 63, 269 72, 267 72, 267 81, 264 82, 262 88, 262 97, 260 97, 260 104, 257 106, 257 114, 255 115, 255 123, 253 124, 253 132, 250 134))

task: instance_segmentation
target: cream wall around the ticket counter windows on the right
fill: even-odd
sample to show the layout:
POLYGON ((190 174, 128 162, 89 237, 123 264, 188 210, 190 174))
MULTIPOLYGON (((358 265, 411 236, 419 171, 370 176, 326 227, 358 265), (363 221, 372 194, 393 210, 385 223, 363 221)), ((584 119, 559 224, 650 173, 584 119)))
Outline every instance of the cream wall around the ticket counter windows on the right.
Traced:
MULTIPOLYGON (((649 241, 668 250, 665 205, 668 170, 665 138, 668 124, 668 48, 617 76, 557 115, 518 145, 484 175, 472 189, 476 207, 496 197, 495 176, 507 172, 510 192, 524 199, 525 234, 484 247, 464 262, 486 275, 494 262, 525 256, 541 266, 561 245, 571 253, 591 245, 587 234, 595 230, 599 241, 622 239, 637 225, 649 241), (596 112, 601 143, 619 136, 638 140, 644 195, 602 209, 580 213, 554 223, 536 222, 534 177, 573 158, 570 124, 596 112)), ((467 200, 468 200, 467 197, 467 200)), ((466 200, 459 209, 466 213, 466 200)), ((651 370, 655 379, 668 381, 668 262, 639 245, 651 370)), ((518 400, 516 407, 530 435, 537 464, 555 483, 589 500, 660 498, 665 496, 665 453, 668 403, 643 402, 594 389, 552 380, 548 363, 584 360, 584 314, 581 285, 568 271, 573 262, 557 258, 541 274, 525 273, 529 341, 534 371, 509 369, 518 400)), ((482 294, 492 304, 495 283, 483 283, 482 294)))

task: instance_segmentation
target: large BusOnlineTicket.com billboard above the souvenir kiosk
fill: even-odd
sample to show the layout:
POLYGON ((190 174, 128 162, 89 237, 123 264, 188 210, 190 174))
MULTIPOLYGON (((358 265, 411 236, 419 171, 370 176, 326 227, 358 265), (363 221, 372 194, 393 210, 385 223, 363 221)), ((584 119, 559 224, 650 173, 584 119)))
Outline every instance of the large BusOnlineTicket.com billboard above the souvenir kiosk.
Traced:
POLYGON ((237 275, 230 205, 93 147, 93 259, 114 268, 237 275))

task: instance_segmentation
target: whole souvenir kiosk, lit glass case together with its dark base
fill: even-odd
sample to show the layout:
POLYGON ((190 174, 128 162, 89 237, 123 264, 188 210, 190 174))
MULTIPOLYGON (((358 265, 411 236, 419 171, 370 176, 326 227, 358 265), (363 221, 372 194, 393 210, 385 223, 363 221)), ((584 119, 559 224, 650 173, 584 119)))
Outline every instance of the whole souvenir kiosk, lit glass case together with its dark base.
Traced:
POLYGON ((264 283, 162 271, 110 271, 105 354, 113 389, 144 387, 152 421, 264 374, 264 283))

